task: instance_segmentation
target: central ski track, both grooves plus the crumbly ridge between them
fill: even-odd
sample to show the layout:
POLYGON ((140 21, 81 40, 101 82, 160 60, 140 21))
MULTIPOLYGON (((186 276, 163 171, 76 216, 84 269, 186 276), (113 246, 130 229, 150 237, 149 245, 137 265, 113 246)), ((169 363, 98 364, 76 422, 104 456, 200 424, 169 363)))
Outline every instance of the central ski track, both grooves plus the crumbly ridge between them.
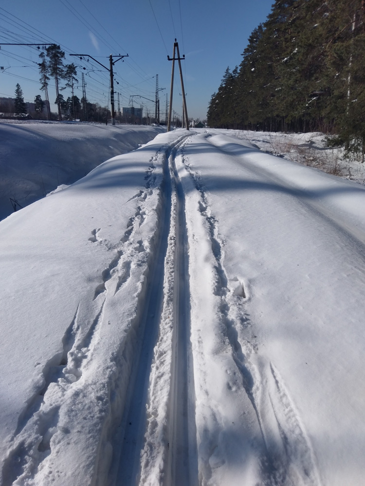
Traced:
POLYGON ((185 276, 187 268, 183 194, 174 172, 174 158, 185 137, 180 137, 165 152, 160 246, 149 276, 154 290, 146 299, 141 325, 144 338, 134 354, 139 357, 138 369, 129 382, 126 411, 115 438, 119 444, 114 449, 119 449, 119 453, 113 460, 110 485, 194 483, 191 481, 194 468, 190 464, 190 457, 196 457, 191 452, 196 440, 194 427, 190 434, 177 430, 178 424, 187 424, 187 410, 193 406, 188 391, 188 383, 191 384, 187 364, 188 299, 185 286, 178 281, 178 270, 185 276), (181 325, 178 301, 184 309, 181 325), (186 383, 185 388, 180 386, 181 381, 186 383), (181 388, 183 398, 177 399, 181 388))

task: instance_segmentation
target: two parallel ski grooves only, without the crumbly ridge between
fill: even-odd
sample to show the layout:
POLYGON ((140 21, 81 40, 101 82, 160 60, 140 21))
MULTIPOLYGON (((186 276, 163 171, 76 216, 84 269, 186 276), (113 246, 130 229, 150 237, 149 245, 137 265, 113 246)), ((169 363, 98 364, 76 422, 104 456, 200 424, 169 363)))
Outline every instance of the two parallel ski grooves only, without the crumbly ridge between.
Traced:
MULTIPOLYGON (((157 347, 162 313, 164 311, 164 281, 170 272, 173 281, 173 332, 169 417, 167 417, 167 453, 164 455, 164 485, 193 485, 197 467, 195 423, 192 397, 193 379, 190 373, 191 350, 189 348, 189 285, 186 256, 186 224, 184 197, 174 158, 186 136, 166 147, 164 182, 161 187, 162 208, 160 213, 160 236, 155 258, 151 265, 147 284, 146 307, 140 324, 140 340, 135 350, 136 366, 129 378, 125 411, 117 433, 113 463, 108 486, 135 486, 141 474, 141 452, 144 448, 147 429, 146 407, 154 348, 157 347), (173 245, 173 268, 169 266, 169 246, 173 245), (192 456, 192 458, 191 458, 192 456), (194 472, 192 472, 194 471, 194 472)), ((171 248, 170 248, 171 253, 171 248)), ((171 276, 170 276, 171 277, 171 276)), ((168 279, 167 279, 168 280, 168 279)), ((171 278, 170 278, 171 280, 171 278)), ((165 283, 166 285, 166 283, 165 283)), ((197 472, 196 472, 197 475, 197 472)))

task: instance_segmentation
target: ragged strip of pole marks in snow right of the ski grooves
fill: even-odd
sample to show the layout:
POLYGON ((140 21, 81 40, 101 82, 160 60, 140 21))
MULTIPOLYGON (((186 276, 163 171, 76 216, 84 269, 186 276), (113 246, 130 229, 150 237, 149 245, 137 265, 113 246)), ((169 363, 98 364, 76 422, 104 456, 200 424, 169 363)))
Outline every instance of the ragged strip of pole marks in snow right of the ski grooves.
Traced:
MULTIPOLYGON (((245 286, 236 276, 228 280, 223 268, 222 254, 224 252, 222 247, 224 247, 224 241, 219 235, 218 222, 209 208, 209 194, 204 188, 200 175, 191 169, 188 157, 183 157, 182 167, 191 176, 194 186, 199 192, 198 207, 203 217, 206 237, 211 242, 211 251, 214 258, 211 258, 214 265, 214 269, 211 269, 211 271, 215 273, 213 294, 219 297, 220 302, 219 304, 216 303, 216 305, 219 306, 221 324, 224 325, 220 329, 221 339, 222 341, 227 341, 226 347, 229 343, 230 353, 237 367, 238 376, 240 376, 238 383, 241 381, 241 386, 243 386, 243 390, 252 404, 262 437, 262 444, 257 450, 259 476, 261 480, 266 478, 265 482, 268 482, 268 484, 277 486, 319 486, 320 481, 313 462, 308 438, 303 432, 300 418, 288 397, 285 385, 279 378, 277 370, 274 371, 273 364, 270 364, 269 368, 268 364, 263 365, 262 358, 257 359, 255 356, 258 349, 255 343, 256 336, 250 336, 250 321, 244 306, 244 299, 246 299, 245 286), (273 381, 273 379, 275 386, 267 383, 273 381), (269 393, 268 390, 270 390, 269 393), (268 401, 269 404, 267 403, 268 401), (271 417, 273 414, 274 421, 271 417), (277 430, 272 429, 273 422, 276 423, 277 430)), ((191 189, 189 190, 191 191, 191 189)), ((196 226, 194 230, 191 230, 192 232, 194 231, 193 240, 195 241, 197 230, 196 226)), ((194 248, 194 244, 191 244, 190 247, 194 248)), ((192 299, 194 301, 194 296, 192 296, 192 299)), ((201 319, 201 316, 197 316, 197 319, 201 319)), ((201 339, 201 344, 202 341, 201 339)), ((197 361, 199 357, 198 354, 197 361)), ((231 375, 231 372, 227 370, 227 374, 231 375)), ((235 377, 234 384, 228 381, 227 387, 232 391, 237 391, 237 373, 233 372, 233 375, 235 377)), ((206 410, 204 410, 203 414, 206 414, 206 410)), ((219 423, 217 411, 211 410, 211 414, 213 420, 219 423)), ((211 437, 211 451, 207 452, 211 455, 205 457, 205 471, 203 475, 205 478, 210 478, 210 480, 205 483, 206 479, 204 481, 201 477, 201 484, 219 484, 219 479, 214 480, 215 475, 217 478, 220 476, 215 469, 222 467, 224 461, 220 458, 218 463, 216 463, 214 455, 217 453, 217 449, 228 447, 227 444, 219 444, 222 434, 223 430, 218 435, 211 437), (207 464, 211 466, 209 469, 207 469, 207 464), (215 481, 218 482, 216 483, 215 481)), ((207 437, 205 436, 204 442, 206 440, 207 437)), ((221 457, 221 451, 219 451, 219 456, 221 457)))

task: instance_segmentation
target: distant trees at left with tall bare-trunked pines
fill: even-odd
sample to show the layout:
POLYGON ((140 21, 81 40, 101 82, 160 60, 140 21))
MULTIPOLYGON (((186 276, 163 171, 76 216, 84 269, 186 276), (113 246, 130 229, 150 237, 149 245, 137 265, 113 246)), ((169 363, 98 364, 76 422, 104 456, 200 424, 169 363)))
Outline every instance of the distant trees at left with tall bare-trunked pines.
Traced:
MULTIPOLYGON (((38 63, 41 90, 44 91, 45 100, 37 95, 34 100, 34 113, 37 118, 46 117, 48 120, 76 120, 81 121, 106 121, 110 118, 110 110, 100 106, 98 103, 89 103, 84 97, 81 100, 74 94, 74 87, 78 83, 76 66, 65 64, 65 52, 57 44, 51 44, 45 48, 45 52, 39 54, 38 63), (58 113, 50 112, 48 87, 51 77, 55 80, 56 99, 58 113), (62 86, 63 85, 63 86, 62 86), (68 88, 71 96, 66 99, 60 91, 68 88), (46 110, 46 114, 44 111, 46 110), (42 116, 44 114, 44 116, 42 116)), ((12 103, 9 100, 2 100, 0 111, 24 116, 27 114, 27 104, 24 103, 23 93, 19 84, 15 89, 15 99, 12 103)))

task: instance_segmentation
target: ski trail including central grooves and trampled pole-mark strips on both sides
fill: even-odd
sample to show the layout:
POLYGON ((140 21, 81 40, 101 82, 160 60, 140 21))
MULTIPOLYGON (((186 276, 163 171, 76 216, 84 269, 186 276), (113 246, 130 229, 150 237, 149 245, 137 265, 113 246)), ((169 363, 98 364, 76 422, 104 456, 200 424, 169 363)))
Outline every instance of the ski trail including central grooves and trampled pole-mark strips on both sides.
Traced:
MULTIPOLYGON (((185 155, 185 147, 193 138, 194 135, 179 137, 152 157, 145 189, 133 196, 136 211, 116 245, 108 246, 100 236, 100 228, 91 230, 90 244, 106 245, 113 258, 101 272, 88 308, 84 309, 79 302, 62 338, 62 351, 44 365, 42 386, 19 416, 3 464, 2 486, 47 484, 37 482, 37 473, 52 464, 55 434, 70 432, 60 423, 62 407, 72 406, 72 400, 68 403, 65 398, 78 393, 76 386, 82 386, 81 379, 84 373, 88 375, 101 329, 106 324, 109 299, 128 284, 137 266, 145 268, 136 303, 136 308, 142 311, 136 310, 129 323, 125 339, 113 356, 114 367, 105 377, 107 383, 99 385, 108 387, 110 402, 103 408, 102 425, 97 425, 100 441, 89 484, 209 484, 218 433, 206 437, 211 444, 207 451, 198 452, 193 358, 194 352, 200 352, 200 346, 198 343, 198 351, 193 352, 190 342, 187 260, 190 236, 183 187, 175 164, 177 157, 199 194, 201 224, 207 228, 214 256, 214 295, 219 300, 221 330, 261 432, 262 484, 320 485, 310 441, 285 383, 274 364, 260 357, 245 311, 250 289, 237 277, 229 278, 224 269, 224 240, 211 210, 209 192, 185 155), (157 160, 164 164, 161 187, 156 186, 157 160), (156 190, 160 194, 159 224, 153 241, 144 242, 138 234, 148 218, 144 203, 156 190), (109 453, 104 454, 105 451, 109 453), (199 459, 198 471, 199 454, 205 456, 199 459)), ((87 379, 85 383, 87 386, 87 379)), ((216 427, 223 427, 213 409, 207 413, 216 427)), ((209 430, 204 434, 208 436, 209 430)), ((55 484, 62 485, 60 475, 57 481, 55 484)))

